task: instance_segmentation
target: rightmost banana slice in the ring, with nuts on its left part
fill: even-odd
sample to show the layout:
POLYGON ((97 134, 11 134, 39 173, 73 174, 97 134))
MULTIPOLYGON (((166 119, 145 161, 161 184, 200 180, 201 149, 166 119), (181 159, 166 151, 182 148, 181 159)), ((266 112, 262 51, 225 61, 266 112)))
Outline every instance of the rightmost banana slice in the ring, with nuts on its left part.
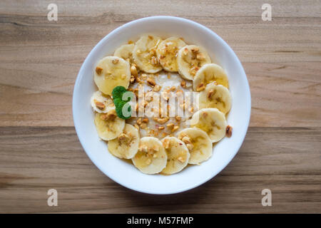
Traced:
POLYGON ((222 86, 210 83, 205 90, 200 92, 199 107, 202 108, 218 108, 222 113, 226 114, 230 111, 232 98, 230 91, 222 86))

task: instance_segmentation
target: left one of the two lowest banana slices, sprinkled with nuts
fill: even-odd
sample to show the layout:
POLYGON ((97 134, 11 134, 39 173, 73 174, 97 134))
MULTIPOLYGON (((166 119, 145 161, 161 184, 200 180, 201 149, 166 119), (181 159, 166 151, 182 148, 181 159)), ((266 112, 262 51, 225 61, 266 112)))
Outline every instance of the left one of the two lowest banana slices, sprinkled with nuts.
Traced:
POLYGON ((155 174, 165 168, 167 155, 162 142, 158 138, 143 137, 139 142, 138 152, 132 160, 141 172, 155 174))

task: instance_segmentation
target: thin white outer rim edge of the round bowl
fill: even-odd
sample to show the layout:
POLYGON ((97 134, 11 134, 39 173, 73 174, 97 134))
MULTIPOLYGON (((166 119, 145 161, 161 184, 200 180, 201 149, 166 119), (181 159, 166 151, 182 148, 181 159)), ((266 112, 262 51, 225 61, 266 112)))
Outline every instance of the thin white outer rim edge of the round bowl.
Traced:
POLYGON ((210 28, 207 28, 206 26, 203 26, 202 24, 199 24, 195 21, 191 21, 189 19, 183 19, 177 16, 148 16, 142 19, 137 19, 134 21, 130 21, 126 24, 123 24, 122 26, 119 26, 118 28, 115 28, 113 31, 111 31, 110 33, 108 33, 105 37, 103 37, 101 39, 101 41, 99 41, 95 47, 93 47, 93 49, 91 50, 90 53, 88 53, 88 56, 86 57, 85 61, 83 61, 83 64, 81 65, 81 68, 78 72, 77 78, 76 78, 76 82, 75 82, 75 86, 73 88, 73 125, 75 126, 76 129, 76 133, 79 139, 79 142, 81 142, 81 146, 83 147, 83 150, 85 150, 86 154, 88 155, 88 157, 91 159, 91 161, 93 162, 94 165, 96 165, 96 167, 98 167, 99 170, 101 170, 101 172, 103 172, 104 175, 106 175, 107 177, 111 178, 111 180, 113 180, 114 182, 118 183, 119 185, 122 185, 123 187, 127 187, 128 189, 134 190, 136 192, 142 192, 142 193, 147 193, 147 194, 153 194, 153 195, 170 195, 170 194, 175 194, 175 193, 179 193, 179 192, 185 192, 188 190, 192 190, 195 187, 198 187, 200 185, 203 185, 205 182, 208 182, 209 180, 213 179, 213 177, 215 177, 216 175, 218 175, 218 173, 220 173, 226 166, 228 166, 228 164, 233 160, 233 158, 235 157, 235 155, 238 153, 238 151, 240 150, 241 145, 243 145, 244 139, 245 139, 245 135, 248 132, 248 125, 250 123, 250 114, 251 114, 251 94, 250 94, 250 86, 248 83, 248 78, 246 77, 244 68, 242 66, 242 64, 240 63, 240 60, 238 59, 238 56, 236 56, 235 52, 233 51, 232 48, 230 48, 230 46, 228 45, 228 43, 226 43, 223 38, 220 38, 220 36, 218 36, 218 34, 216 34, 214 31, 210 30, 210 28), (110 175, 106 174, 105 172, 103 172, 103 168, 100 167, 99 165, 96 164, 94 158, 87 152, 87 148, 83 145, 83 138, 81 137, 81 135, 78 134, 78 127, 76 125, 77 122, 77 118, 75 116, 76 113, 76 108, 75 108, 75 103, 76 103, 76 98, 75 98, 75 94, 76 94, 76 90, 78 88, 78 84, 81 81, 81 77, 83 76, 83 68, 86 65, 89 56, 91 56, 91 54, 93 52, 96 51, 96 49, 100 48, 100 46, 102 45, 103 41, 105 41, 106 39, 108 39, 110 36, 113 36, 114 33, 117 33, 119 30, 121 30, 122 28, 126 28, 128 26, 132 26, 133 24, 138 24, 142 21, 148 21, 151 19, 161 19, 161 20, 176 20, 176 21, 181 21, 181 22, 185 22, 185 23, 189 23, 189 24, 193 24, 193 26, 198 26, 203 28, 204 30, 208 31, 208 33, 210 33, 212 36, 215 36, 215 38, 218 40, 218 42, 220 42, 223 46, 225 46, 228 51, 230 51, 230 53, 232 54, 232 56, 235 58, 235 60, 237 61, 238 66, 240 67, 241 71, 240 72, 243 76, 245 76, 245 81, 246 81, 246 93, 249 96, 249 107, 248 107, 248 120, 246 120, 246 128, 243 128, 243 132, 241 133, 242 135, 242 140, 239 141, 239 145, 238 145, 238 150, 235 150, 235 152, 233 154, 230 155, 228 162, 226 162, 225 165, 222 166, 222 168, 220 170, 218 170, 217 172, 213 172, 212 175, 210 175, 210 177, 206 178, 205 180, 200 180, 199 182, 196 182, 194 185, 190 185, 190 187, 185 187, 183 189, 180 190, 175 190, 175 191, 168 191, 168 192, 156 192, 156 191, 144 191, 144 190, 140 190, 139 187, 129 187, 126 183, 121 182, 119 180, 114 179, 113 177, 111 177, 110 175))

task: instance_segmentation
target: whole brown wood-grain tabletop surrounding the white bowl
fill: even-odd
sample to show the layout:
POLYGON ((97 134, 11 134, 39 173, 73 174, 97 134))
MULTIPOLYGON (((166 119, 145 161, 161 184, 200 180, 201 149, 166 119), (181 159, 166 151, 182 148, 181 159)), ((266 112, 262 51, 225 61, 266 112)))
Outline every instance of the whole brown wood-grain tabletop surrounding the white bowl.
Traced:
POLYGON ((0 212, 321 212, 320 1, 0 1, 0 212), (58 6, 58 21, 47 6, 58 6), (261 6, 272 5, 272 21, 261 6), (245 142, 213 180, 145 195, 103 175, 73 128, 81 63, 114 28, 153 15, 192 19, 243 63, 245 142), (47 191, 58 191, 58 207, 47 191), (261 191, 272 191, 263 207, 261 191))

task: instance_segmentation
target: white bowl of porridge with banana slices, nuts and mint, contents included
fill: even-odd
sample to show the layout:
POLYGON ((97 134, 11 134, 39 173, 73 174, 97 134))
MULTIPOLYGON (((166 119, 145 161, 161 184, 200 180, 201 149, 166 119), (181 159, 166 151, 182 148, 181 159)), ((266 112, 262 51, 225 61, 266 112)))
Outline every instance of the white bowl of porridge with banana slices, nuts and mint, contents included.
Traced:
POLYGON ((228 165, 245 138, 250 88, 238 57, 213 31, 153 16, 103 38, 73 91, 78 138, 124 187, 172 194, 228 165))

